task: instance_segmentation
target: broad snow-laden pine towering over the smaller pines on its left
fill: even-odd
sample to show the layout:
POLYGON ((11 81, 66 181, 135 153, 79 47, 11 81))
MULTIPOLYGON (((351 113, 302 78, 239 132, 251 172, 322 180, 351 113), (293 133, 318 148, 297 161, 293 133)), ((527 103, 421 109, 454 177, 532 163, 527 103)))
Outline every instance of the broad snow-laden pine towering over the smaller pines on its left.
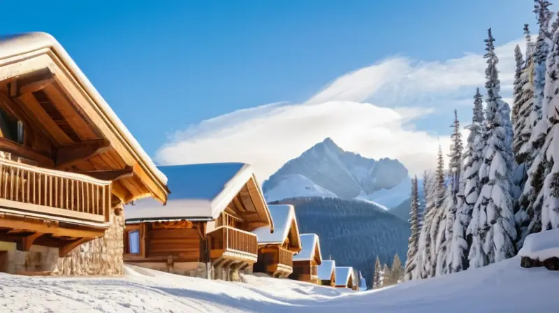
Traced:
POLYGON ((473 268, 508 259, 516 253, 511 194, 512 126, 509 105, 500 96, 494 41, 490 28, 484 55, 487 59, 487 108, 484 155, 479 168, 481 191, 470 221, 473 242, 469 259, 473 268))

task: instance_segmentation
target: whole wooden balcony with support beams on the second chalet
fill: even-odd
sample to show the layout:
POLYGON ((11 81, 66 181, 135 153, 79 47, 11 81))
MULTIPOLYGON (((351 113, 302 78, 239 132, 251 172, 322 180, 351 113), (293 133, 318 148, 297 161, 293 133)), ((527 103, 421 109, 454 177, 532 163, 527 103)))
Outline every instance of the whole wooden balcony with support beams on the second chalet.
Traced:
POLYGON ((255 263, 258 258, 258 242, 254 233, 231 226, 220 226, 208 233, 210 258, 212 260, 255 263))

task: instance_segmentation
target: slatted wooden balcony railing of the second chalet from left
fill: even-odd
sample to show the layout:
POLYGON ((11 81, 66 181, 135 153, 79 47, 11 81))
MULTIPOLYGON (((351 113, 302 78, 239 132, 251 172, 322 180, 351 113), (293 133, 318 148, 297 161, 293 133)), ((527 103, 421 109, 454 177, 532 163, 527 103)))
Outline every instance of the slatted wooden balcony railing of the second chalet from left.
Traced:
MULTIPOLYGON (((212 251, 221 252, 243 252, 252 254, 254 257, 258 254, 258 238, 254 233, 241 231, 231 226, 220 226, 215 231, 208 233, 210 238, 210 249, 212 251)), ((219 254, 219 253, 218 253, 219 254)), ((217 254, 212 253, 212 257, 217 254)))

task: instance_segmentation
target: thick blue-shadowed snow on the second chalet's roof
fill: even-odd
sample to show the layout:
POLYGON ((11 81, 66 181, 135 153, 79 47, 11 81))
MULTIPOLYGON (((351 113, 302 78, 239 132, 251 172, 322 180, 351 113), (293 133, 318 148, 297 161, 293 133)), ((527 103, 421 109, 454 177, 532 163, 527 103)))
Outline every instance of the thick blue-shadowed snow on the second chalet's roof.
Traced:
POLYGON ((252 177, 245 163, 159 166, 171 191, 166 205, 152 198, 126 205, 126 221, 216 219, 252 177))

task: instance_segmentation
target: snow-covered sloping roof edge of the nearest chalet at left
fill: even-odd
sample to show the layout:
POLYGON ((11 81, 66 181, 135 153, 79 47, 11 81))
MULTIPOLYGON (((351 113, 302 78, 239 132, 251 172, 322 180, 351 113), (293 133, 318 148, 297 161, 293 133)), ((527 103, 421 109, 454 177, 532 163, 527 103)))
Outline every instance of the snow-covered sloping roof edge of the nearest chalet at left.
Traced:
POLYGON ((166 189, 167 177, 157 170, 157 167, 153 163, 152 159, 147 155, 147 153, 145 153, 143 148, 138 143, 138 140, 136 140, 130 131, 126 129, 126 126, 124 126, 112 108, 110 108, 101 94, 97 92, 97 89, 95 89, 92 83, 89 82, 85 74, 82 73, 78 65, 75 64, 68 52, 62 48, 62 45, 60 45, 53 36, 43 32, 0 36, 0 64, 13 61, 12 58, 17 57, 20 54, 34 52, 45 48, 50 49, 55 55, 57 55, 66 67, 66 70, 68 70, 71 76, 76 80, 76 82, 78 82, 78 85, 84 89, 87 96, 89 96, 97 105, 97 108, 104 113, 103 117, 105 117, 108 122, 110 122, 110 125, 114 127, 113 131, 119 135, 125 147, 132 152, 132 154, 136 155, 136 159, 140 160, 138 164, 144 168, 147 175, 150 175, 152 180, 159 182, 161 187, 166 189))

